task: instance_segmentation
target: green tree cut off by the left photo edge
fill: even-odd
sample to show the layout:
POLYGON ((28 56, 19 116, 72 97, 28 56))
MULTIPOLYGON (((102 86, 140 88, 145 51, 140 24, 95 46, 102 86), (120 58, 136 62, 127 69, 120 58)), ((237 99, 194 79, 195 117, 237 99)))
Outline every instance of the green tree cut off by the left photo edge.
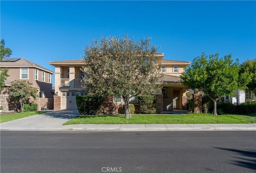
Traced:
MULTIPOLYGON (((10 50, 10 48, 5 48, 4 46, 4 39, 2 39, 0 42, 0 62, 2 62, 3 58, 8 58, 12 54, 12 50, 10 50)), ((8 76, 8 68, 0 68, 0 90, 2 90, 4 81, 8 76)))

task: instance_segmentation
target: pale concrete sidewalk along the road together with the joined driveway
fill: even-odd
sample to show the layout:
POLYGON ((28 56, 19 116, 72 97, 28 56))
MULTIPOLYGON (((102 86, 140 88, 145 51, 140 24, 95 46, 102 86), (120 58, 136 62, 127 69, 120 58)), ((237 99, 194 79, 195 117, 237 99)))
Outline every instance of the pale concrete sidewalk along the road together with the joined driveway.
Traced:
POLYGON ((52 111, 0 124, 10 131, 256 131, 256 124, 75 124, 77 110, 52 111))

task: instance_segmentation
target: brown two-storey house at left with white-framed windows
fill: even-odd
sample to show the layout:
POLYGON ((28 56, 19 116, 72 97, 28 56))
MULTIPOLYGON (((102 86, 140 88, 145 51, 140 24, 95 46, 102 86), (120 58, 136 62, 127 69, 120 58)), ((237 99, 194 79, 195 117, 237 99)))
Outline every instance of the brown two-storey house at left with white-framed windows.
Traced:
MULTIPOLYGON (((3 58, 0 68, 8 68, 9 77, 5 80, 5 86, 10 86, 14 80, 26 80, 32 83, 32 86, 37 88, 38 97, 53 98, 52 92, 52 75, 54 72, 39 66, 24 58, 3 58)), ((2 89, 0 94, 4 94, 5 89, 2 89)), ((42 102, 40 104, 45 104, 42 102)), ((43 106, 43 105, 42 105, 43 106)))

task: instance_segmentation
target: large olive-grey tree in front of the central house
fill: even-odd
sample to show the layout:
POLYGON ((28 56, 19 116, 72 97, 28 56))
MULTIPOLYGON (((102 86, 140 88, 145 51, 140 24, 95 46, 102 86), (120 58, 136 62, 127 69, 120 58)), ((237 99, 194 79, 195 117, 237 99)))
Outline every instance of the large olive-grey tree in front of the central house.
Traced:
POLYGON ((108 37, 86 46, 82 70, 87 76, 83 87, 91 95, 122 96, 125 118, 130 118, 129 99, 138 94, 159 93, 162 73, 156 46, 151 39, 108 37))

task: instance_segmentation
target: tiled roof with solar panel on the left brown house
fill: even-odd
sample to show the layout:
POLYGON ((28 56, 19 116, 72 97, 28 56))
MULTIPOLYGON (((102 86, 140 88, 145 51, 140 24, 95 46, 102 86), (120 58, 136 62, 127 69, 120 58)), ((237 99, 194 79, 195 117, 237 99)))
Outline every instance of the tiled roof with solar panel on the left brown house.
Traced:
POLYGON ((25 58, 3 58, 3 61, 0 64, 1 67, 34 67, 41 70, 44 70, 48 73, 54 74, 51 70, 44 68, 34 62, 26 60, 25 58))

